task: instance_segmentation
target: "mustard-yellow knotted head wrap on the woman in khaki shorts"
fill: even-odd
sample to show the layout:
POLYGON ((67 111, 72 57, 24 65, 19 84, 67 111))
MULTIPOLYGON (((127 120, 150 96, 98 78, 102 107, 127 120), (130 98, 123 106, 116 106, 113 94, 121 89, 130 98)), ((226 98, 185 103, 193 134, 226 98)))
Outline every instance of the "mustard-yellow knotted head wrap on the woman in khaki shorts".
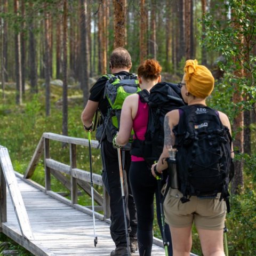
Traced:
POLYGON ((184 71, 188 92, 198 98, 206 98, 211 94, 214 78, 209 69, 198 65, 197 60, 187 60, 184 71))

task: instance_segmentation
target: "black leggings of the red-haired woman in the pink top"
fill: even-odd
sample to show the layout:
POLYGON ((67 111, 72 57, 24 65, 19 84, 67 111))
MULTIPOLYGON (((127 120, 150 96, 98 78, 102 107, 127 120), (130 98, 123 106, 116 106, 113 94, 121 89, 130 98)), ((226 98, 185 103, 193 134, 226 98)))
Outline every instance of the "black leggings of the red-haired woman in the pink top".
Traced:
MULTIPOLYGON (((137 209, 139 253, 141 256, 150 256, 153 244, 154 195, 157 192, 157 182, 145 161, 131 163, 129 178, 137 209)), ((158 196, 156 199, 157 221, 162 234, 158 196)), ((165 225, 165 234, 167 241, 170 241, 169 255, 172 255, 171 234, 168 225, 165 225)))

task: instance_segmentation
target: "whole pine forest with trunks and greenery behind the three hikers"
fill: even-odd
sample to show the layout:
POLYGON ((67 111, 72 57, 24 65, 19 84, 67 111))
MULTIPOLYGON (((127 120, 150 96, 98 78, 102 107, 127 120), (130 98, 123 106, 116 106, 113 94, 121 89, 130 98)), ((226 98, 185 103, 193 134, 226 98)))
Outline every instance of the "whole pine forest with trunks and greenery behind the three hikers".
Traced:
MULTIPOLYGON (((185 60, 197 59, 215 77, 208 105, 226 113, 233 127, 229 254, 256 255, 255 0, 0 3, 0 145, 8 148, 14 170, 26 171, 43 132, 86 137, 80 115, 90 87, 109 72, 115 47, 131 53, 133 72, 143 60, 157 59, 162 80, 173 83, 181 81, 185 60)), ((69 163, 67 148, 51 148, 54 159, 69 163)), ((77 154, 78 167, 89 170, 88 149, 77 154)), ((97 150, 93 171, 101 173, 97 150)), ((44 185, 43 160, 33 179, 44 185)), ((52 189, 65 191, 54 178, 52 189)), ((78 202, 86 200, 81 193, 78 202)), ((154 232, 159 237, 157 225, 154 232)), ((196 233, 193 238, 193 252, 202 255, 196 233)))

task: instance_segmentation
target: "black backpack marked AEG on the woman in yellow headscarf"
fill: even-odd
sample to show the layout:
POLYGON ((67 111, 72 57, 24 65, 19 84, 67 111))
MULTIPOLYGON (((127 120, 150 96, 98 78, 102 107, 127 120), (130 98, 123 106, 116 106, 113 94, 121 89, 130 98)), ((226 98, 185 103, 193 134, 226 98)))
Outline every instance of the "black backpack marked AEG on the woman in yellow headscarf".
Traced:
POLYGON ((230 211, 228 185, 233 177, 231 136, 217 111, 203 105, 182 107, 175 135, 176 164, 181 202, 189 196, 211 197, 221 193, 230 211))

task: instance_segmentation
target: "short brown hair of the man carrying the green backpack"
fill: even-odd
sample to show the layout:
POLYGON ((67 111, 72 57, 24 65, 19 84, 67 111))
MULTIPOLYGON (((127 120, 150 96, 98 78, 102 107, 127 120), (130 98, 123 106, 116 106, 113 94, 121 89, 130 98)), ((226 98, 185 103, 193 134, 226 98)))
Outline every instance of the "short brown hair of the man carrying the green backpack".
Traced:
POLYGON ((123 47, 116 48, 110 55, 110 65, 113 68, 131 68, 132 58, 130 53, 123 47))

